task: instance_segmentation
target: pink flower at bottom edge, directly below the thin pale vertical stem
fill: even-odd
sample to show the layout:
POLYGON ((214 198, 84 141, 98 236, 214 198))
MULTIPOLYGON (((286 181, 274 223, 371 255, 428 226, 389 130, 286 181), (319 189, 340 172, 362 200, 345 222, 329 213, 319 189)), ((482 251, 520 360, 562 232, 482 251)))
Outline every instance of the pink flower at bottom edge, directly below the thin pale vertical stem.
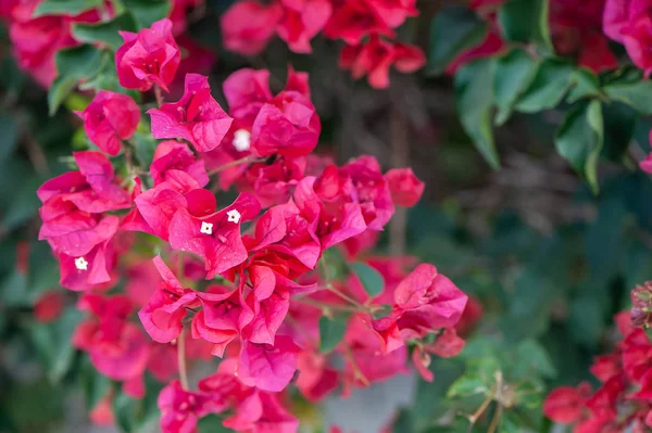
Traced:
POLYGON ((172 381, 159 394, 162 433, 197 432, 197 421, 209 415, 220 413, 226 405, 206 393, 184 390, 178 380, 172 381))

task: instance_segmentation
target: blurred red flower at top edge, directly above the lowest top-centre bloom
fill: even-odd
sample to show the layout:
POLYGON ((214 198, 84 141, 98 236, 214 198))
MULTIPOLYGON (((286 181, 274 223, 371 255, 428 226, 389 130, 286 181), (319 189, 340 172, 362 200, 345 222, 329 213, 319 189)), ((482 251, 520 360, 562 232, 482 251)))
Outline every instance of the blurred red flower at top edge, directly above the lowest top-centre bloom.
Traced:
POLYGON ((394 31, 387 25, 381 14, 378 14, 374 0, 348 0, 334 8, 333 15, 324 28, 324 35, 356 46, 367 35, 393 38, 394 31))

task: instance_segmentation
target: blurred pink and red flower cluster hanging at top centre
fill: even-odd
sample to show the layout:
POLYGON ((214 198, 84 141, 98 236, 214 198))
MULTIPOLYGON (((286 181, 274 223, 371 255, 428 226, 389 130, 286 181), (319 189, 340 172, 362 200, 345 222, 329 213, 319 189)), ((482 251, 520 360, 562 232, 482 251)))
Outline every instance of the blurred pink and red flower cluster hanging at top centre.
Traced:
POLYGON ((419 48, 393 40, 396 28, 418 15, 415 5, 416 0, 239 0, 222 16, 221 28, 226 49, 242 55, 261 53, 275 35, 291 51, 311 53, 311 40, 323 31, 344 41, 341 68, 386 88, 391 66, 412 73, 425 64, 419 48))

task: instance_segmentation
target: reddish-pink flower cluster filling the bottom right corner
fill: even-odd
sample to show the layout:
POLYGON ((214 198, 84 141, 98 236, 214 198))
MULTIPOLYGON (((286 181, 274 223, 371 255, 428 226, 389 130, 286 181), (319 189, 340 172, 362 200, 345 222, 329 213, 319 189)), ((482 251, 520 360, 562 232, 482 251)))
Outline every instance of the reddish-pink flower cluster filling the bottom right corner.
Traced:
POLYGON ((631 311, 614 318, 623 340, 590 368, 601 386, 595 392, 588 382, 557 387, 543 404, 547 417, 574 424, 576 433, 642 433, 652 428, 652 341, 643 329, 652 324, 652 283, 636 288, 631 301, 631 311))

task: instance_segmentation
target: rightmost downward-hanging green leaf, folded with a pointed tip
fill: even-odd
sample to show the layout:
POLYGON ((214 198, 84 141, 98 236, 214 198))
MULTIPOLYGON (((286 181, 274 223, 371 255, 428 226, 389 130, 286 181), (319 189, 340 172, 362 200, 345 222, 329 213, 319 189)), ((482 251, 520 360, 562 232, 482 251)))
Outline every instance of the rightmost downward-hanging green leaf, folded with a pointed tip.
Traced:
POLYGON ((557 130, 555 147, 593 192, 598 191, 598 158, 604 142, 604 122, 599 101, 572 110, 557 130))

